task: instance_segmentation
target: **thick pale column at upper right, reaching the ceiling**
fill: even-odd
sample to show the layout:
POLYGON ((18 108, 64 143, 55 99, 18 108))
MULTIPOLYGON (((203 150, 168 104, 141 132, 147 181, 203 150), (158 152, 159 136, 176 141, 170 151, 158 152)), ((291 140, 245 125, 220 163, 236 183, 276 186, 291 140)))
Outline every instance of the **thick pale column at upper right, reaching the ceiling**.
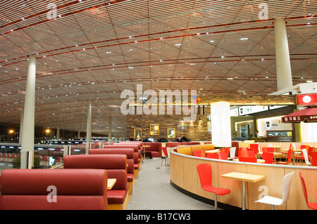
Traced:
POLYGON ((275 18, 275 60, 278 91, 293 86, 288 48, 286 23, 284 18, 275 18))

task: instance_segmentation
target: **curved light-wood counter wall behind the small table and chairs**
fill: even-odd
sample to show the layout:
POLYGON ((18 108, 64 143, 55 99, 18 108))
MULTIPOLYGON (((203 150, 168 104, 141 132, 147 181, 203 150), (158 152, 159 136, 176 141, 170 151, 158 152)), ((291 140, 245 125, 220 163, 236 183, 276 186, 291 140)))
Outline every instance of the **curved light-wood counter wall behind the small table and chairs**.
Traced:
MULTIPOLYGON (((299 171, 302 172, 309 195, 309 202, 317 202, 317 167, 316 166, 285 166, 272 164, 253 164, 246 162, 231 162, 220 159, 207 159, 193 157, 177 152, 170 152, 170 183, 177 188, 189 192, 189 195, 198 196, 200 199, 213 201, 211 192, 202 190, 197 172, 197 164, 210 163, 213 173, 213 186, 224 187, 231 190, 230 194, 218 197, 218 207, 231 208, 242 206, 241 181, 221 178, 221 175, 230 172, 253 173, 266 176, 256 183, 246 183, 245 205, 249 210, 269 210, 270 205, 255 203, 268 190, 267 195, 282 198, 282 180, 287 173, 294 171, 294 178, 290 189, 290 199, 275 209, 282 210, 308 210, 299 171)), ((203 200, 204 201, 204 200, 203 200)))

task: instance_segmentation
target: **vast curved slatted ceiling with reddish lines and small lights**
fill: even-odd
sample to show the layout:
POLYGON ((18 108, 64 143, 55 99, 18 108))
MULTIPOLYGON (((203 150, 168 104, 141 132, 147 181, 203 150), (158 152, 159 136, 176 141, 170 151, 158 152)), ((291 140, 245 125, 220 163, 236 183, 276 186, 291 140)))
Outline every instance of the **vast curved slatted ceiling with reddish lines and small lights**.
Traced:
POLYGON ((120 93, 137 84, 273 93, 279 17, 293 84, 316 81, 316 12, 316 0, 1 1, 0 122, 20 123, 28 55, 37 58, 35 126, 84 131, 92 100, 92 131, 107 134, 111 114, 113 136, 125 136, 120 93))

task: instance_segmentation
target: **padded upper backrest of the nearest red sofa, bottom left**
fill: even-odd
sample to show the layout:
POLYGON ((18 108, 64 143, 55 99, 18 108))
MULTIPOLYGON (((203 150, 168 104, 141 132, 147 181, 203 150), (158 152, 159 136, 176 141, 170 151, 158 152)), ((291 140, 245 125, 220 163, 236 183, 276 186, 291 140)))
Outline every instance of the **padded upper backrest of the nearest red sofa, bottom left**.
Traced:
POLYGON ((6 169, 0 176, 1 195, 104 195, 107 171, 90 169, 6 169))

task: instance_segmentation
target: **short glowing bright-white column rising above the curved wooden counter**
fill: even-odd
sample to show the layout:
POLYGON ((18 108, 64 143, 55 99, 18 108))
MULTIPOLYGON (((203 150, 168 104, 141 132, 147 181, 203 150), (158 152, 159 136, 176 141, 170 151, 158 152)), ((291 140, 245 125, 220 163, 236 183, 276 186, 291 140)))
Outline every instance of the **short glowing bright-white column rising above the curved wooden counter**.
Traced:
POLYGON ((215 147, 231 147, 230 103, 211 103, 211 133, 215 147))

